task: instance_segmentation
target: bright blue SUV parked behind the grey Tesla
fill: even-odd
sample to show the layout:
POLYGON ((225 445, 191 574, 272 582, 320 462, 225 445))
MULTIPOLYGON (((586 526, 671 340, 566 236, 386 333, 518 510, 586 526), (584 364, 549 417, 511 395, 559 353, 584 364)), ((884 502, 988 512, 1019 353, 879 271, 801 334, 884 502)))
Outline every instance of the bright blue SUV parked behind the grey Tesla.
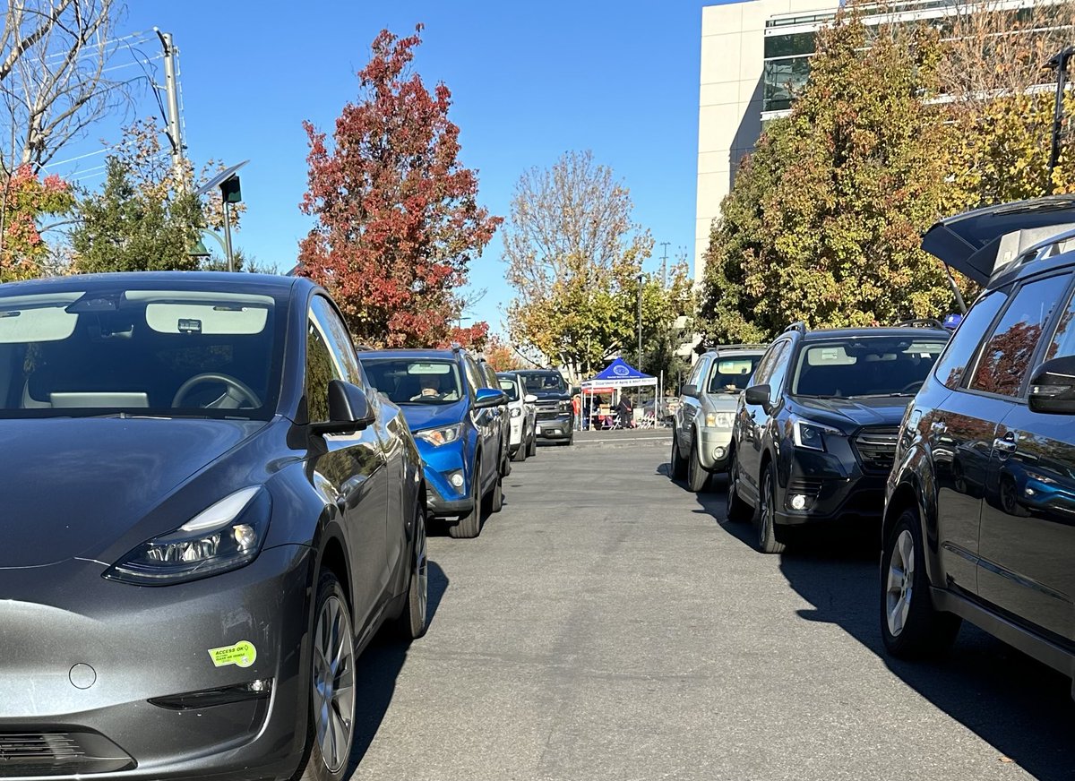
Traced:
POLYGON ((476 537, 502 502, 507 396, 462 348, 363 350, 359 359, 371 385, 403 410, 425 463, 430 515, 449 521, 453 537, 476 537))

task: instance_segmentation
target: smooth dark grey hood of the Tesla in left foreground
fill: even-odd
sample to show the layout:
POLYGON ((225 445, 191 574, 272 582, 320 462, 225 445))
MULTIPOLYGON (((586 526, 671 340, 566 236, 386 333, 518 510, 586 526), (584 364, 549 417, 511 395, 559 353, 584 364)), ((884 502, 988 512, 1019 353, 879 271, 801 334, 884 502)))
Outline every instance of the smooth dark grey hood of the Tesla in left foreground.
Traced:
POLYGON ((0 569, 106 548, 263 425, 189 418, 0 420, 0 569))

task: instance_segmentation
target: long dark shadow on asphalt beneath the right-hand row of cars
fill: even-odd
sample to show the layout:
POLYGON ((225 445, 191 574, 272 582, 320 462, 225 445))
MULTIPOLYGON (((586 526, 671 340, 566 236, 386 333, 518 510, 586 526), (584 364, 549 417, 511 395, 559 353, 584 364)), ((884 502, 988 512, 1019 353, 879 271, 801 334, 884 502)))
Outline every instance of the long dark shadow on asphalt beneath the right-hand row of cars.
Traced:
MULTIPOLYGON (((668 475, 668 464, 658 472, 668 475)), ((714 477, 708 491, 698 494, 694 511, 754 548, 754 526, 728 521, 726 493, 725 477, 714 477)), ((903 662, 888 655, 879 628, 878 547, 873 534, 848 538, 823 531, 789 546, 779 568, 812 606, 799 611, 803 620, 843 628, 918 695, 993 746, 998 762, 1014 761, 1044 781, 1075 777, 1075 704, 1066 676, 965 622, 941 659, 903 662)))

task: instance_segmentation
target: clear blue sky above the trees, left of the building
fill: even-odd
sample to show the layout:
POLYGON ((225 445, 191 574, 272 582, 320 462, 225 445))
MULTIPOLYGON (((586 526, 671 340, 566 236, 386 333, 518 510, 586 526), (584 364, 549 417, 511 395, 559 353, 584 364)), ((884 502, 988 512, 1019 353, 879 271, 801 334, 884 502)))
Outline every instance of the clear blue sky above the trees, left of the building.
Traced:
MULTIPOLYGON (((306 184, 302 120, 331 130, 343 104, 358 96, 355 71, 374 35, 382 28, 406 34, 419 21, 426 29, 415 67, 427 86, 443 81, 450 88, 461 159, 478 170, 479 200, 491 213, 507 215, 526 169, 547 168, 568 149, 591 149, 631 189, 635 219, 670 243, 671 259, 692 252, 704 4, 134 0, 123 27, 157 26, 174 35, 191 159, 250 160, 242 173, 248 211, 235 241, 260 262, 289 269, 312 225, 298 209, 306 184)), ((150 41, 142 50, 153 56, 159 45, 150 41)), ((149 67, 162 81, 160 66, 149 67)), ((138 115, 155 112, 144 95, 138 115)), ((115 130, 95 130, 95 142, 102 136, 112 141, 115 130)), ((58 159, 94 148, 100 144, 66 149, 58 159)), ((53 170, 81 170, 88 174, 83 185, 99 186, 92 167, 101 157, 53 170)), ((488 292, 467 313, 493 331, 502 330, 511 300, 501 247, 498 235, 473 264, 473 287, 488 292)), ((655 255, 662 251, 658 246, 655 255)))

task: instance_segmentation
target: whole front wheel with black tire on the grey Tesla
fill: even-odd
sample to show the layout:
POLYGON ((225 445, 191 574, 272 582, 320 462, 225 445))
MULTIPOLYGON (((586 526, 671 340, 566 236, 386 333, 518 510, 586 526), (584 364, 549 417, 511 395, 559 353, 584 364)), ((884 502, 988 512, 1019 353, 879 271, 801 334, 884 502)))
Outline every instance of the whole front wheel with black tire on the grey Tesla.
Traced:
MULTIPOLYGON (((292 777, 296 781, 343 781, 348 775, 350 749, 355 742, 355 704, 358 699, 355 691, 355 638, 350 625, 350 612, 347 598, 340 581, 331 570, 321 574, 317 582, 317 598, 314 602, 314 632, 311 635, 311 674, 310 674, 310 714, 306 723, 306 750, 302 762, 292 777), (324 622, 324 623, 322 623, 324 622), (330 632, 335 630, 339 642, 329 640, 330 632), (328 642, 330 650, 318 650, 318 643, 328 642), (332 655, 330 661, 328 655, 332 655), (333 664, 335 663, 335 664, 333 664), (333 669, 333 666, 336 669, 333 669), (319 698, 325 685, 318 682, 332 679, 332 694, 328 707, 321 707, 319 698), (349 682, 349 686, 346 685, 349 682), (349 688, 349 705, 345 699, 349 688), (326 751, 318 740, 318 721, 335 719, 341 721, 336 726, 346 735, 346 746, 335 749, 332 754, 331 742, 326 751), (331 758, 326 758, 332 754, 331 758)), ((331 728, 331 727, 329 727, 331 728)), ((328 736, 328 731, 324 732, 328 736)))

